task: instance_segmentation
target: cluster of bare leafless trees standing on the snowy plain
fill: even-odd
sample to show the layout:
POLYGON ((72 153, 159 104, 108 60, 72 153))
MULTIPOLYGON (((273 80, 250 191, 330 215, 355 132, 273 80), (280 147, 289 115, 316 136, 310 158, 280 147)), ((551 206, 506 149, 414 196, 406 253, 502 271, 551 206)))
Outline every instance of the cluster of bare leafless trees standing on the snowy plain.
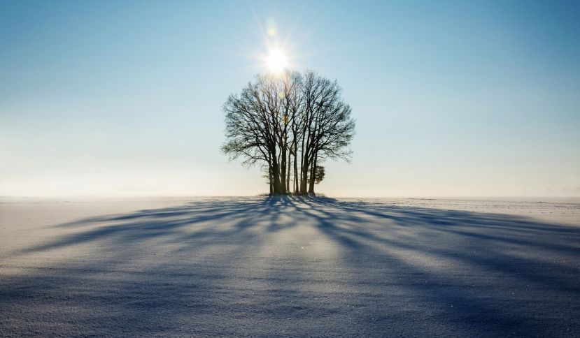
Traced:
POLYGON ((246 166, 262 166, 270 194, 313 194, 326 159, 350 161, 351 107, 336 81, 312 71, 257 75, 227 98, 223 110, 222 152, 246 166))

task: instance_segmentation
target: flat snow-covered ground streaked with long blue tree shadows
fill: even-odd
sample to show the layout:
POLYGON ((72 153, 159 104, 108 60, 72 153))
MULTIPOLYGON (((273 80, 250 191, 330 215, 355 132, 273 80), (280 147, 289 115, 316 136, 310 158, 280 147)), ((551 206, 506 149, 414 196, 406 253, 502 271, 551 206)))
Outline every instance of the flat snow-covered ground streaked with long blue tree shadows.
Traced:
POLYGON ((0 200, 0 336, 580 336, 580 204, 0 200))

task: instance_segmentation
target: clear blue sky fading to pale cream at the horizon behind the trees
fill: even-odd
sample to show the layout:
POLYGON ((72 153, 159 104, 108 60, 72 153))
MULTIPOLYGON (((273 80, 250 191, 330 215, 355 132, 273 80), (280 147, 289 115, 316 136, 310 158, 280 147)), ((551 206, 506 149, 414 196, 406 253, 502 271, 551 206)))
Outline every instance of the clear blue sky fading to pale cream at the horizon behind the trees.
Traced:
POLYGON ((0 0, 0 196, 239 196, 222 105, 275 44, 336 79, 327 196, 580 196, 577 1, 0 0), (269 34, 268 34, 269 33, 269 34))

